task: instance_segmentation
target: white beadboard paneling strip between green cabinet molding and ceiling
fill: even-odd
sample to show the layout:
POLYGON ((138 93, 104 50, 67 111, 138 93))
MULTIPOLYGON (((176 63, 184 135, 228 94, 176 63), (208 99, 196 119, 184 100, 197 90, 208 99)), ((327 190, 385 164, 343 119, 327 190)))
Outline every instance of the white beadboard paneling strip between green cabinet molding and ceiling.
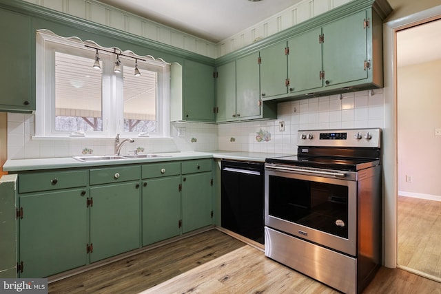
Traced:
POLYGON ((305 0, 217 44, 94 0, 24 1, 216 59, 352 0, 305 0))

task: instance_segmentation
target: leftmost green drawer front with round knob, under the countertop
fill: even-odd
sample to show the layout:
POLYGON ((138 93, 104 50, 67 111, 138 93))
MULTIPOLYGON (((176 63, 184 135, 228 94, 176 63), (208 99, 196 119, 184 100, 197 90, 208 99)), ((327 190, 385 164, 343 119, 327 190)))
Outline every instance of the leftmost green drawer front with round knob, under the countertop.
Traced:
POLYGON ((88 171, 50 171, 19 174, 19 193, 48 191, 88 185, 88 171))

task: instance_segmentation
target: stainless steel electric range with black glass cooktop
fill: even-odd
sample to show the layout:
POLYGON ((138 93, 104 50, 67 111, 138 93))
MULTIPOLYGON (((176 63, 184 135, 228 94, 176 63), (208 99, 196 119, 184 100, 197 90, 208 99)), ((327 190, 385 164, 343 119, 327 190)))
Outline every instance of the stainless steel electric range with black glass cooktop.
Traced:
POLYGON ((380 129, 298 131, 265 162, 265 255, 344 293, 380 264, 380 129))

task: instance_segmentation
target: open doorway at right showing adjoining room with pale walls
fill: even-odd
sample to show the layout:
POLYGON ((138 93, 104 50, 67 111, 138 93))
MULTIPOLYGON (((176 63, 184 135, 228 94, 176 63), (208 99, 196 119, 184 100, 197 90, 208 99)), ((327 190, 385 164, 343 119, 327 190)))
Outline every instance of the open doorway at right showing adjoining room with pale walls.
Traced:
POLYGON ((397 264, 441 282, 441 19, 396 33, 397 264))

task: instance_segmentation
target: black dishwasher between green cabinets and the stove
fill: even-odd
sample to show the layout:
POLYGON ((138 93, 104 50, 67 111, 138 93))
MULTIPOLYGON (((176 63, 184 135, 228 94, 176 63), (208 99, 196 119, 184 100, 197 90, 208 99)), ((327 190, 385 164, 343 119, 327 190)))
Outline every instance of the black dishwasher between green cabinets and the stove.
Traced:
POLYGON ((264 163, 222 160, 221 225, 264 244, 264 163))

